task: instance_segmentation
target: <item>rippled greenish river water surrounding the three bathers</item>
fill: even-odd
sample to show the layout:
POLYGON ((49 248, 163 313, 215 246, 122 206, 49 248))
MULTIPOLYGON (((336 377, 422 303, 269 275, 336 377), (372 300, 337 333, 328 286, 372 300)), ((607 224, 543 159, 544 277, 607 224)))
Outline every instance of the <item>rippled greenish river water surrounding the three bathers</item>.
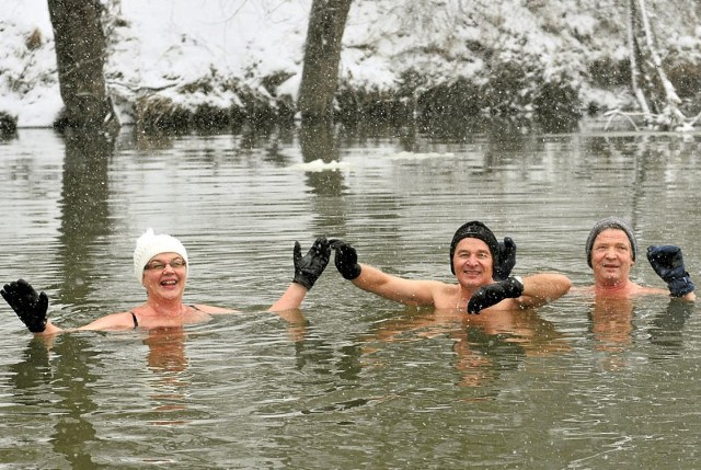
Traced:
MULTIPOLYGON (((186 301, 242 313, 45 344, 2 303, 0 467, 697 468, 694 305, 571 294, 521 314, 416 311, 332 264, 303 317, 265 309, 295 240, 344 238, 361 262, 450 282, 471 219, 516 240, 515 274, 584 286, 589 228, 620 216, 643 250, 681 245, 699 283, 699 140, 125 130, 110 149, 22 129, 0 142, 3 283, 46 290, 64 326, 123 311, 143 300, 131 252, 153 227, 188 249, 186 301)), ((644 253, 633 278, 664 286, 644 253)))

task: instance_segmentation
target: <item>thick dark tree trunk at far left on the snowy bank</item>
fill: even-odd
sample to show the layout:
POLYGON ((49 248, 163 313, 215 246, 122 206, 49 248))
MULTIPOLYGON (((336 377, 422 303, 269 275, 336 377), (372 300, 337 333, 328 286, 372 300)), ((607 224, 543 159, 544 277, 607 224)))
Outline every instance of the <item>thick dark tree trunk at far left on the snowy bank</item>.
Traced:
POLYGON ((115 133, 119 123, 103 74, 106 41, 99 0, 48 0, 54 26, 62 125, 115 133))

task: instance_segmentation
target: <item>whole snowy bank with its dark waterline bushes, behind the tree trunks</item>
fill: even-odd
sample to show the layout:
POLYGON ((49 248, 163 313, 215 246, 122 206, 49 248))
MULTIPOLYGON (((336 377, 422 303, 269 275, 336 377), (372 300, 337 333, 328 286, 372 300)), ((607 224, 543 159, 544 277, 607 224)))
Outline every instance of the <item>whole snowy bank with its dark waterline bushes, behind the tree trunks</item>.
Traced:
MULTIPOLYGON (((295 112, 311 0, 104 3, 113 19, 105 73, 122 123, 295 112)), ((621 3, 356 0, 338 104, 378 115, 526 118, 545 106, 571 114, 630 106, 621 3)), ((669 67, 683 70, 670 78, 691 100, 701 89, 701 28, 689 3, 648 1, 669 67)), ((20 127, 50 126, 62 103, 46 1, 4 0, 3 11, 0 112, 20 127)))

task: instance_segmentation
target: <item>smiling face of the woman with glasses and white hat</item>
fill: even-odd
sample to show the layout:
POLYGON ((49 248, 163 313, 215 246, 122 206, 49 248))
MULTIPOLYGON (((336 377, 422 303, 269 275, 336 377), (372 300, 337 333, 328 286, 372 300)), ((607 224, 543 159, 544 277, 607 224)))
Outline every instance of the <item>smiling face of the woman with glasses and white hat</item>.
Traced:
POLYGON ((187 282, 187 265, 177 253, 159 253, 143 270, 143 287, 149 297, 180 299, 187 282))

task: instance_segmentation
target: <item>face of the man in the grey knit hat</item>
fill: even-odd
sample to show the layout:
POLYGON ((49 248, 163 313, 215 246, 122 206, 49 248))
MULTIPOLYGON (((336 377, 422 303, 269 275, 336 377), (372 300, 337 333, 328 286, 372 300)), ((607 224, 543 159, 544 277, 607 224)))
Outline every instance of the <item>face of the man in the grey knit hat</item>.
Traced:
POLYGON ((631 241, 623 230, 601 230, 591 248, 594 279, 600 286, 616 286, 628 282, 633 267, 631 241))

